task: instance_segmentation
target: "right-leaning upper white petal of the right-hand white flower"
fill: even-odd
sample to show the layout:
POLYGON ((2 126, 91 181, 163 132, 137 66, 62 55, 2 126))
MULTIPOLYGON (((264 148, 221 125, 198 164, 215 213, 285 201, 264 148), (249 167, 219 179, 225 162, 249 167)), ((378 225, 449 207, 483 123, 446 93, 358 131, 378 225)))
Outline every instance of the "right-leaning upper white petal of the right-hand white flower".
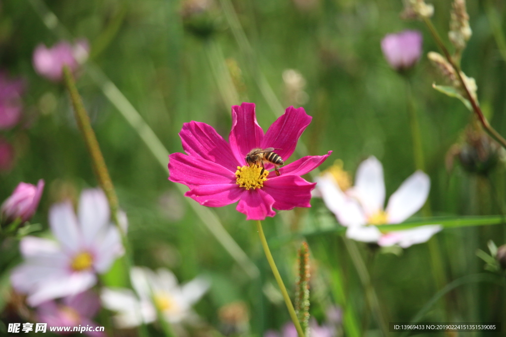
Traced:
POLYGON ((429 196, 431 179, 416 171, 390 197, 387 206, 388 223, 400 223, 424 206, 429 196))

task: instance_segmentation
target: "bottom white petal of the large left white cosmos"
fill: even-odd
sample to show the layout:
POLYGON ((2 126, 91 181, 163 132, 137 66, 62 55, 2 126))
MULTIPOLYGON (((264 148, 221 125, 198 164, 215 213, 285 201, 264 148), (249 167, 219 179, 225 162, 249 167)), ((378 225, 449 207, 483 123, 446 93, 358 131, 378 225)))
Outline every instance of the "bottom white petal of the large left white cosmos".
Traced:
POLYGON ((44 283, 39 283, 37 290, 33 292, 26 302, 31 306, 37 306, 48 300, 74 296, 88 290, 97 283, 97 277, 93 272, 71 272, 58 278, 51 278, 44 283))

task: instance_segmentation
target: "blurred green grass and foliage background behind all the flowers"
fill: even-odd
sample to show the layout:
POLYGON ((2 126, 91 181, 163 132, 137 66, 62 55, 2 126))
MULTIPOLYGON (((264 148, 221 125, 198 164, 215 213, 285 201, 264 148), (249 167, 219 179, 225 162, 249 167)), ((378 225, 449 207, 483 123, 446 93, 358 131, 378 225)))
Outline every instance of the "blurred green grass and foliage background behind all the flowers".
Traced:
MULTIPOLYGON (((3 69, 28 83, 23 100, 29 121, 29 126, 25 123, 6 133, 15 145, 17 159, 12 171, 0 175, 0 200, 5 200, 19 181, 45 179, 47 187, 33 223, 47 228, 47 213, 53 203, 64 198, 75 201, 82 188, 96 186, 97 181, 64 87, 33 70, 35 46, 40 42, 52 45, 60 39, 44 25, 33 5, 37 1, 6 0, 0 7, 0 62, 3 69)), ((363 159, 374 155, 384 165, 387 195, 415 170, 405 81, 389 68, 380 41, 387 33, 410 28, 423 32, 425 54, 437 47, 420 22, 400 20, 400 1, 233 1, 254 59, 234 38, 221 5, 228 0, 212 2, 203 9, 191 8, 190 2, 45 1, 71 36, 89 39, 91 61, 138 109, 170 152, 182 152, 178 132, 190 120, 213 125, 227 136, 230 103, 220 90, 220 76, 232 79, 234 86, 229 89, 237 91, 234 104, 243 100, 257 104, 259 123, 266 129, 282 111, 272 111, 258 85, 258 72, 265 75, 284 108, 297 105, 297 101, 287 94, 291 89, 282 75, 286 69, 296 69, 305 80, 304 108, 313 116, 301 139, 311 155, 334 151, 332 160, 322 168, 339 158, 346 170, 354 172, 363 159), (213 45, 221 54, 213 54, 213 45), (221 55, 222 59, 209 55, 221 55), (217 60, 223 64, 213 64, 217 60), (213 67, 231 70, 216 75, 213 67)), ((451 2, 434 5, 435 25, 446 37, 451 2)), ((474 34, 463 52, 461 66, 476 79, 482 106, 490 111, 493 126, 505 135, 506 63, 497 49, 485 6, 486 2, 468 4, 474 34)), ((504 4, 493 6, 506 19, 504 4)), ((502 214, 506 181, 501 161, 486 175, 468 173, 459 165, 451 172, 445 168, 447 151, 459 141, 472 118, 461 102, 432 88, 436 79, 437 72, 423 57, 411 74, 411 82, 432 182, 430 208, 434 215, 502 214)), ((167 170, 160 169, 139 136, 89 77, 86 66, 77 84, 121 208, 128 214, 134 263, 168 267, 181 281, 208 275, 212 288, 196 305, 196 311, 217 329, 224 324, 217 312, 233 302, 246 304, 251 334, 279 329, 289 317, 279 300, 254 223, 245 221, 235 205, 215 209, 232 237, 259 267, 260 277, 251 280, 187 207, 174 183, 167 180, 167 170)), ((295 159, 294 155, 288 162, 295 159)), ((311 209, 284 213, 286 217, 278 215, 264 221, 268 238, 338 226, 319 199, 312 201, 311 209)), ((483 272, 484 264, 476 257, 476 250, 486 250, 491 238, 497 246, 502 245, 504 235, 503 225, 452 228, 439 233, 447 280, 483 272)), ((321 321, 332 303, 341 301, 337 304, 343 305, 335 292, 336 284, 341 284, 345 310, 355 310, 360 335, 379 335, 342 237, 313 235, 308 243, 315 260, 310 313, 321 321), (339 272, 334 272, 335 268, 339 272)), ((7 270, 20 257, 13 253, 17 252, 16 243, 4 246, 8 253, 2 253, 0 266, 7 270)), ((292 295, 299 246, 298 240, 292 240, 273 249, 292 295)), ((383 254, 365 244, 359 248, 387 322, 410 321, 437 292, 426 244, 398 255, 383 254)), ((121 285, 122 280, 114 276, 119 273, 113 269, 105 280, 121 285)), ((2 284, 4 277, 0 278, 0 291, 2 284)), ((496 284, 462 285, 444 296, 424 319, 504 323, 504 296, 504 287, 496 284)))

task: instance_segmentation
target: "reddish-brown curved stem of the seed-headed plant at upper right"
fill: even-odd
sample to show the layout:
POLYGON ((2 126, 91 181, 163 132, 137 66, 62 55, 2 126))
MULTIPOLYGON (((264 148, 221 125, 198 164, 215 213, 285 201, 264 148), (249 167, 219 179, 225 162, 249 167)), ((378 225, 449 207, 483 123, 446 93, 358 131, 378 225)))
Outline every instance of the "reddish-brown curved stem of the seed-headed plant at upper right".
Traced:
POLYGON ((485 129, 485 131, 487 131, 487 133, 492 138, 494 138, 494 140, 496 140, 504 149, 506 149, 506 139, 504 139, 499 134, 499 132, 497 132, 490 125, 490 123, 488 122, 488 120, 485 117, 485 115, 483 115, 483 112, 481 111, 481 108, 480 108, 477 100, 475 100, 473 98, 473 95, 471 94, 471 91, 469 91, 469 88, 466 85, 466 82, 464 81, 464 79, 462 78, 462 75, 460 74, 460 67, 455 62, 455 60, 453 60, 453 58, 451 57, 450 52, 448 51, 448 49, 444 45, 443 40, 441 39, 441 36, 439 36, 439 33, 436 30, 436 27, 434 27, 434 24, 432 23, 431 19, 424 18, 424 22, 427 24, 427 27, 429 27, 429 30, 430 30, 432 36, 434 37, 434 40, 436 41, 437 45, 439 46, 439 48, 443 52, 444 56, 446 57, 446 59, 448 60, 448 62, 451 64, 451 66, 455 70, 456 75, 458 77, 458 80, 459 80, 460 84, 462 85, 462 88, 464 88, 464 90, 466 91, 467 99, 471 103, 471 106, 473 107, 473 111, 475 112, 476 117, 478 117, 478 120, 480 121, 481 125, 483 126, 483 128, 485 129))

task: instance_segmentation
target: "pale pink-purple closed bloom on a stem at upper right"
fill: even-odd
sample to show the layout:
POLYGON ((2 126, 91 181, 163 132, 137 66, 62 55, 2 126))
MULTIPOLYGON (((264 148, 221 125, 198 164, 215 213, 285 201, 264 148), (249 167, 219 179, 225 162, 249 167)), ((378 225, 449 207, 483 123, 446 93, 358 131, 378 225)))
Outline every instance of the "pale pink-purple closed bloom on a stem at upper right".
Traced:
POLYGON ((392 68, 407 70, 420 59, 422 40, 420 32, 405 30, 385 36, 381 41, 381 49, 392 68))

